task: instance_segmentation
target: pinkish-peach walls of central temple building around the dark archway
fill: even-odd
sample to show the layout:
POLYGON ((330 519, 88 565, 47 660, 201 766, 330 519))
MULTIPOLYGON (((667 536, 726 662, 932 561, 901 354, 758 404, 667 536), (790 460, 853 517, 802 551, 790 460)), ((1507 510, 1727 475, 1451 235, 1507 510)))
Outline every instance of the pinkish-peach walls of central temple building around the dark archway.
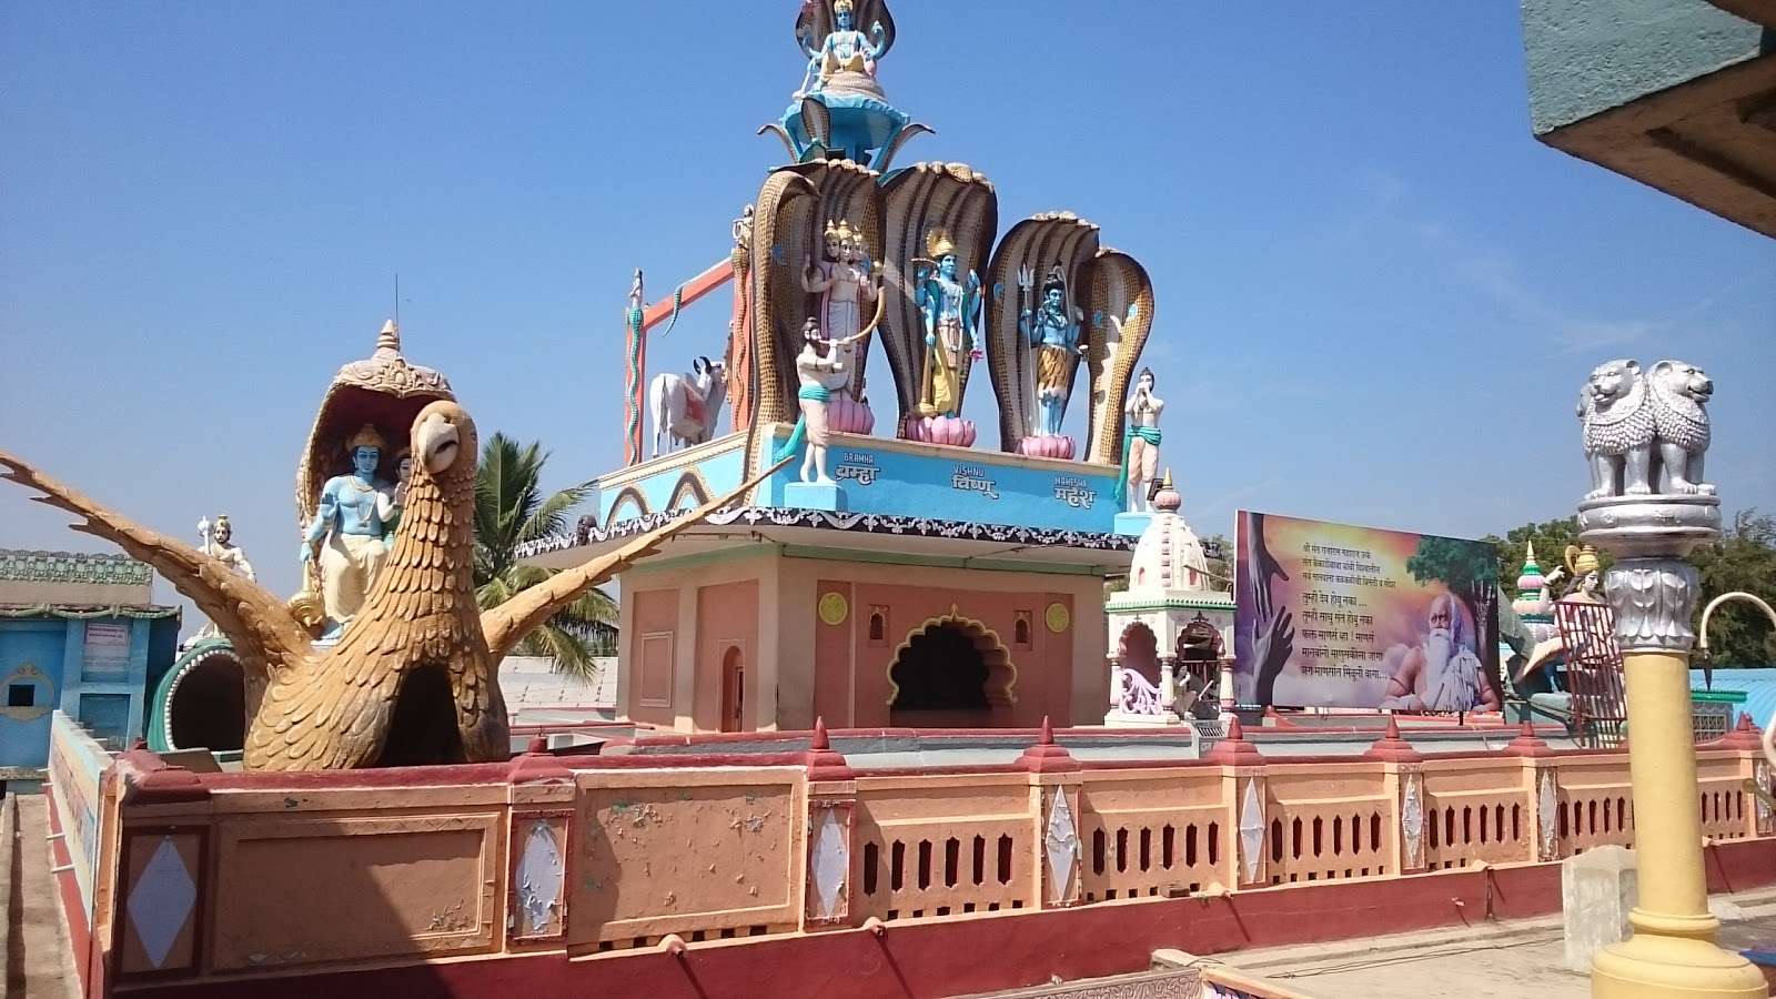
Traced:
POLYGON ((886 727, 888 668, 900 643, 952 611, 998 635, 1016 667, 1014 704, 984 723, 1034 727, 1096 722, 1103 663, 1103 583, 1096 576, 996 572, 932 565, 796 558, 773 547, 709 560, 655 562, 623 576, 620 704, 629 718, 677 731, 721 729, 721 663, 741 645, 744 727, 886 727), (819 601, 845 603, 824 624, 819 601), (1048 608, 1066 627, 1048 627, 1048 608), (870 638, 874 608, 886 617, 870 638), (1019 642, 1019 615, 1027 642, 1019 642), (670 665, 668 665, 670 663, 670 665), (662 697, 662 690, 670 695, 662 697))

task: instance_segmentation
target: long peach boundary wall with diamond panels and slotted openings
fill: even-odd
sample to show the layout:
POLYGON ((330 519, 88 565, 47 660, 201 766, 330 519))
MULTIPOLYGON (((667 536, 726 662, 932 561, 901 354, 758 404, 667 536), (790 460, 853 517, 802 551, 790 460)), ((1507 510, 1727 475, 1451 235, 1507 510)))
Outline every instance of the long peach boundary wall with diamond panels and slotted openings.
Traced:
MULTIPOLYGON (((1385 759, 1222 747, 1195 763, 1082 764, 1044 743, 1016 764, 883 775, 817 750, 769 766, 520 755, 199 777, 137 750, 101 780, 89 994, 1502 873, 1634 835, 1623 752, 1533 738, 1497 754, 1371 754, 1385 759), (1069 830, 1062 805, 1076 862, 1057 869, 1046 843, 1057 823, 1069 830), (822 910, 815 871, 833 869, 817 860, 835 827, 849 876, 822 910), (181 878, 188 907, 131 905, 140 885, 183 898, 181 878)), ((1698 759, 1709 835, 1771 839, 1744 789, 1756 748, 1730 736, 1698 759)))

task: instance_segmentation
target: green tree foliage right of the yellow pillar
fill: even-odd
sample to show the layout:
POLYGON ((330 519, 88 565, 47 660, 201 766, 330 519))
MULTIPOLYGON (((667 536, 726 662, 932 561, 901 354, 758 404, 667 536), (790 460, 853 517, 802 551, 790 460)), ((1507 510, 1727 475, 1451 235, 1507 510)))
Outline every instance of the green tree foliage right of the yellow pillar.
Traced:
MULTIPOLYGON (((1689 556, 1701 574, 1701 608, 1714 597, 1742 590, 1776 604, 1776 517, 1740 510, 1721 540, 1689 556)), ((1776 665, 1776 629, 1746 601, 1728 601, 1709 619, 1709 652, 1717 667, 1776 665)))

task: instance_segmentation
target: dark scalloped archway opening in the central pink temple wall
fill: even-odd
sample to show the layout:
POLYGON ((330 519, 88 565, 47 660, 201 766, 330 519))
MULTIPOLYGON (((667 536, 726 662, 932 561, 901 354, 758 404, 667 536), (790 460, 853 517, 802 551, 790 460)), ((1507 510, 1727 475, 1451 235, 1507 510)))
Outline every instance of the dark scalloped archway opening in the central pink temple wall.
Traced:
POLYGON ((998 633, 950 613, 908 631, 888 665, 888 713, 915 729, 1011 723, 1018 667, 998 633))

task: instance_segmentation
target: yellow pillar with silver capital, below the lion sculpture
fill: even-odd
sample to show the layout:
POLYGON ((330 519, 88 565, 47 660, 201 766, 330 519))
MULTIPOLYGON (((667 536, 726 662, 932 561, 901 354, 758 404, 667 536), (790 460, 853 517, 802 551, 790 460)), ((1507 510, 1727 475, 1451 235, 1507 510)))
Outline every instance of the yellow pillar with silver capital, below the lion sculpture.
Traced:
POLYGON ((1591 958, 1598 999, 1753 999, 1764 974, 1714 944, 1691 732, 1691 615, 1701 581, 1684 560, 1719 537, 1714 496, 1609 496, 1579 507, 1581 539, 1616 555, 1604 595, 1629 686, 1629 770, 1639 899, 1634 935, 1591 958))

